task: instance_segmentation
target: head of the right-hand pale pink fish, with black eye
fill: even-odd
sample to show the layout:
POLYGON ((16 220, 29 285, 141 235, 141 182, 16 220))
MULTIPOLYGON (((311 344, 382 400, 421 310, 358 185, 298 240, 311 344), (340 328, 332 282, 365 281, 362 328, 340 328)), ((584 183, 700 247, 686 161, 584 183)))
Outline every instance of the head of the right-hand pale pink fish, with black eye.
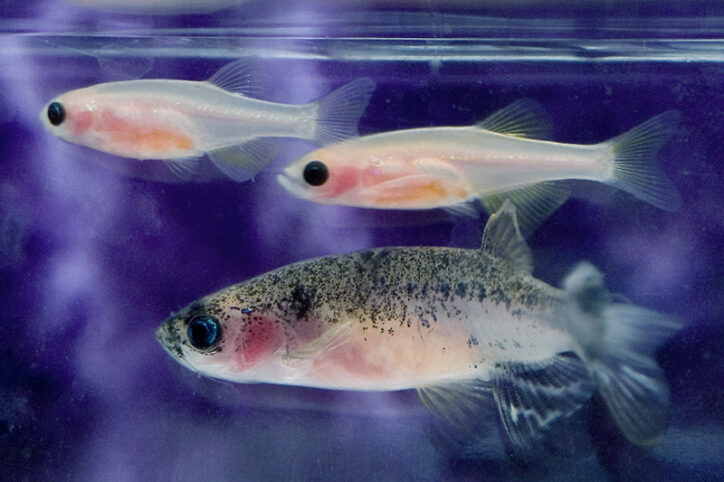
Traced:
POLYGON ((368 161, 352 148, 331 145, 293 161, 277 176, 294 196, 322 204, 358 206, 368 161))

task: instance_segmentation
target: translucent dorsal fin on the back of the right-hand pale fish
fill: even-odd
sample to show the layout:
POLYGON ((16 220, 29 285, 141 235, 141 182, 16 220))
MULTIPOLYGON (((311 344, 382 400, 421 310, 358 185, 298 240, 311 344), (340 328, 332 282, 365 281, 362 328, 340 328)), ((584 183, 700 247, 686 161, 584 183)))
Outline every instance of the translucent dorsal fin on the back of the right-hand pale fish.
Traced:
POLYGON ((529 139, 548 139, 553 131, 550 116, 533 99, 516 100, 476 125, 498 134, 529 139))

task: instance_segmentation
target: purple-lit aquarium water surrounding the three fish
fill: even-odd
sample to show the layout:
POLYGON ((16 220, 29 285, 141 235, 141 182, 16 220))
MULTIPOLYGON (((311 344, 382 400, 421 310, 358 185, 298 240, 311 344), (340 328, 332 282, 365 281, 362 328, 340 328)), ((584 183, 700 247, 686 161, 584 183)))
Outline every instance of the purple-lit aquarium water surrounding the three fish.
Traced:
POLYGON ((425 3, 402 14, 272 3, 181 17, 3 5, 0 479, 722 477, 720 9, 531 4, 425 3), (583 184, 529 239, 537 277, 558 285, 589 260, 613 292, 685 322, 658 355, 672 396, 662 440, 629 445, 594 398, 560 439, 569 457, 521 464, 493 436, 485 456, 465 459, 435 445, 411 392, 234 386, 173 362, 154 340, 158 324, 229 284, 325 254, 480 242, 482 221, 441 211, 290 197, 274 177, 313 148, 303 141, 284 142, 254 182, 225 181, 206 165, 199 182, 182 183, 159 162, 63 143, 38 120, 70 89, 141 76, 201 80, 245 55, 260 57, 272 79, 265 98, 279 102, 373 78, 363 134, 469 125, 530 97, 550 112, 555 140, 593 143, 681 111, 659 155, 683 195, 680 211, 583 184))

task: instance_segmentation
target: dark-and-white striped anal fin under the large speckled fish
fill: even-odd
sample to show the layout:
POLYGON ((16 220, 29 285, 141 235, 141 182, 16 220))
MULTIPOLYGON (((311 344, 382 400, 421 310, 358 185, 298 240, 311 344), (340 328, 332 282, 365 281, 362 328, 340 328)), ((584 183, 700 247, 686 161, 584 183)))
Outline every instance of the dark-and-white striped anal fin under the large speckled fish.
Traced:
POLYGON ((523 451, 531 451, 546 430, 578 410, 595 391, 583 363, 567 355, 498 364, 492 385, 505 431, 523 451))

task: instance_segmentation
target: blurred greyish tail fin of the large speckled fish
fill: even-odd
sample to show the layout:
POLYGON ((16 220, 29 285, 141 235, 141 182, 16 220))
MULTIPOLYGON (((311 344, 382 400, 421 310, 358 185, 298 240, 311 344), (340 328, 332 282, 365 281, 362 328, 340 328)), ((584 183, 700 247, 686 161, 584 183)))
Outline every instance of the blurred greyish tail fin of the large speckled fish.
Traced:
POLYGON ((680 324, 613 303, 603 276, 588 263, 568 275, 564 288, 569 329, 611 416, 632 442, 655 442, 666 426, 669 389, 654 354, 680 324))

